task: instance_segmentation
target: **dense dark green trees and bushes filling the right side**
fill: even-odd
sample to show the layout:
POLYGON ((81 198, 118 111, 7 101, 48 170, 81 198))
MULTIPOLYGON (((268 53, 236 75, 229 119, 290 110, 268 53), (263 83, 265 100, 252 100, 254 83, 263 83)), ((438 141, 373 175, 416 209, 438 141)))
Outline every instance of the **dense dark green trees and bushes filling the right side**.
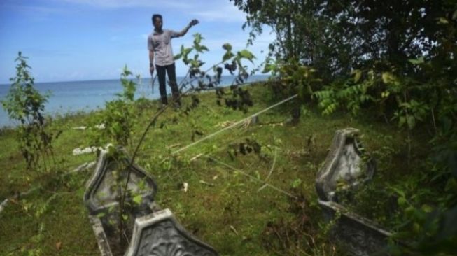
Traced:
POLYGON ((403 250, 452 253, 456 1, 232 1, 247 15, 251 40, 266 27, 276 33, 265 66, 277 78, 274 90, 307 94, 304 99, 317 101, 324 115, 369 113, 396 123, 407 137, 409 178, 390 181, 387 192, 398 199, 400 212, 392 220, 398 237, 414 241, 403 250), (414 169, 413 136, 430 144, 428 159, 414 169))

